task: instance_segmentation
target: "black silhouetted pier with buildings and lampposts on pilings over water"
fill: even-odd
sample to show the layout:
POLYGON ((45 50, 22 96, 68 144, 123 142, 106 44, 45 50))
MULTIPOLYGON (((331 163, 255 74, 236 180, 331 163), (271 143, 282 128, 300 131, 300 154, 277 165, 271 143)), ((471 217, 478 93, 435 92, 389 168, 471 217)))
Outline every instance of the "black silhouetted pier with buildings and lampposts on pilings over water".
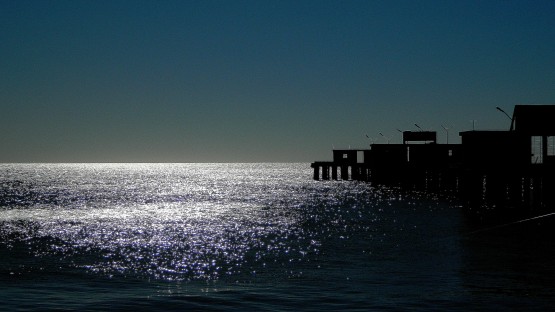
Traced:
POLYGON ((555 209, 555 105, 516 105, 509 118, 507 131, 460 132, 461 144, 404 131, 403 144, 334 150, 333 161, 311 164, 314 179, 447 191, 482 213, 555 209))

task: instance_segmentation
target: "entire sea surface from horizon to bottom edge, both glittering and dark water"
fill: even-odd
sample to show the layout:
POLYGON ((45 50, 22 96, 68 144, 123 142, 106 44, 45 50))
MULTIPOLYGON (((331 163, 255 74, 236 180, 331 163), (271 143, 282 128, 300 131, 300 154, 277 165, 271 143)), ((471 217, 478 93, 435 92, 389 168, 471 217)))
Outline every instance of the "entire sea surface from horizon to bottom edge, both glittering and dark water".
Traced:
POLYGON ((0 310, 543 311, 547 219, 304 163, 2 164, 0 310))

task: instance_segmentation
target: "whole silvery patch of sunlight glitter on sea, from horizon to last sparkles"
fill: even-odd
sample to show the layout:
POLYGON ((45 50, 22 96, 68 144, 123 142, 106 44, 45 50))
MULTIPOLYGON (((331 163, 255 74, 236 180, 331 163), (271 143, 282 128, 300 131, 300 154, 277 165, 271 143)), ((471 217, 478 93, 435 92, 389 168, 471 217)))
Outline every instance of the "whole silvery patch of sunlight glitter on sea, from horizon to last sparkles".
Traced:
POLYGON ((369 255, 411 229, 395 192, 312 181, 305 164, 5 167, 1 236, 102 276, 298 278, 338 249, 369 255))

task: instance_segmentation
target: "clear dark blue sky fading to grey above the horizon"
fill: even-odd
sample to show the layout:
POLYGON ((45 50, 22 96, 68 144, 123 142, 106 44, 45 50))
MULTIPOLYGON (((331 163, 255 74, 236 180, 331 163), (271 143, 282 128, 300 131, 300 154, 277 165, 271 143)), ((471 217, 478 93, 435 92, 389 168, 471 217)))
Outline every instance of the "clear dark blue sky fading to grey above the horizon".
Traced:
POLYGON ((554 56, 555 1, 0 0, 0 162, 456 143, 555 103, 554 56))

